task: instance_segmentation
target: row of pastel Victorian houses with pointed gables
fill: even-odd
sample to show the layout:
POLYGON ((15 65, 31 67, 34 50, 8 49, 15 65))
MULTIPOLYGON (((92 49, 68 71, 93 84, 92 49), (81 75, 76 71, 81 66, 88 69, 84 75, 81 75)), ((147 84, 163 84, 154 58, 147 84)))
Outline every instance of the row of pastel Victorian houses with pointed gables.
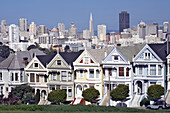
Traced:
MULTIPOLYGON (((45 55, 32 49, 20 51, 0 63, 0 93, 17 85, 28 84, 34 93, 40 90, 40 104, 48 104, 48 93, 65 89, 67 102, 79 104, 82 91, 94 87, 100 92, 99 105, 114 105, 109 93, 118 84, 129 86, 128 107, 139 106, 147 97, 150 85, 165 88, 170 96, 170 55, 167 43, 141 44, 128 47, 85 49, 79 52, 57 52, 45 55)), ((88 102, 86 102, 88 104, 88 102)))

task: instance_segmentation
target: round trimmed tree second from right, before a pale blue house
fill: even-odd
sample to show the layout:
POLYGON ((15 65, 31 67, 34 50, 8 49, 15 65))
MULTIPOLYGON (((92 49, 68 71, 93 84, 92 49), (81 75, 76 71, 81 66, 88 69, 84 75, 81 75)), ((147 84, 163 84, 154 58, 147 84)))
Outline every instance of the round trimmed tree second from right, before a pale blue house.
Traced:
POLYGON ((124 84, 119 84, 110 93, 113 101, 124 101, 129 95, 129 87, 124 84))

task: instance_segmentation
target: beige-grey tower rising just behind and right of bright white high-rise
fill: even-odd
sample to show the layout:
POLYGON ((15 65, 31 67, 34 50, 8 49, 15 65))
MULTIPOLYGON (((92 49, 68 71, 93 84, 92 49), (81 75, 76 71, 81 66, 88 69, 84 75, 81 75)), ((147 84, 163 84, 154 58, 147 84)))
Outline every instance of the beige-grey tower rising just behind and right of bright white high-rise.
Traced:
POLYGON ((20 18, 19 19, 19 29, 20 31, 27 31, 27 19, 26 18, 20 18))

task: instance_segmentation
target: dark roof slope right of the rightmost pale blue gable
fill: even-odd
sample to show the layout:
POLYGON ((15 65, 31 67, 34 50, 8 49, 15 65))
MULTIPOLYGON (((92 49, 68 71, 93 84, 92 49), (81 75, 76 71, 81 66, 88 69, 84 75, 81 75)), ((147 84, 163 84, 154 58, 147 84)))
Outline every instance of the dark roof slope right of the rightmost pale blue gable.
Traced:
MULTIPOLYGON (((163 60, 166 61, 167 55, 167 43, 161 44, 148 44, 151 49, 163 60)), ((169 42, 169 51, 170 51, 170 42, 169 42)))

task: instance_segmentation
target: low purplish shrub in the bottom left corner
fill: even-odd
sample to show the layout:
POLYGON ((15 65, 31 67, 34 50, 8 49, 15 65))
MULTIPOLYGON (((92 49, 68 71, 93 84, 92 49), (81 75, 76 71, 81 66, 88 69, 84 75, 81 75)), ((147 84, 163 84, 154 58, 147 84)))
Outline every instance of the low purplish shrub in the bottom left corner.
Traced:
POLYGON ((19 98, 14 97, 12 92, 9 93, 8 98, 0 98, 0 104, 8 104, 8 105, 18 105, 21 101, 19 98))

